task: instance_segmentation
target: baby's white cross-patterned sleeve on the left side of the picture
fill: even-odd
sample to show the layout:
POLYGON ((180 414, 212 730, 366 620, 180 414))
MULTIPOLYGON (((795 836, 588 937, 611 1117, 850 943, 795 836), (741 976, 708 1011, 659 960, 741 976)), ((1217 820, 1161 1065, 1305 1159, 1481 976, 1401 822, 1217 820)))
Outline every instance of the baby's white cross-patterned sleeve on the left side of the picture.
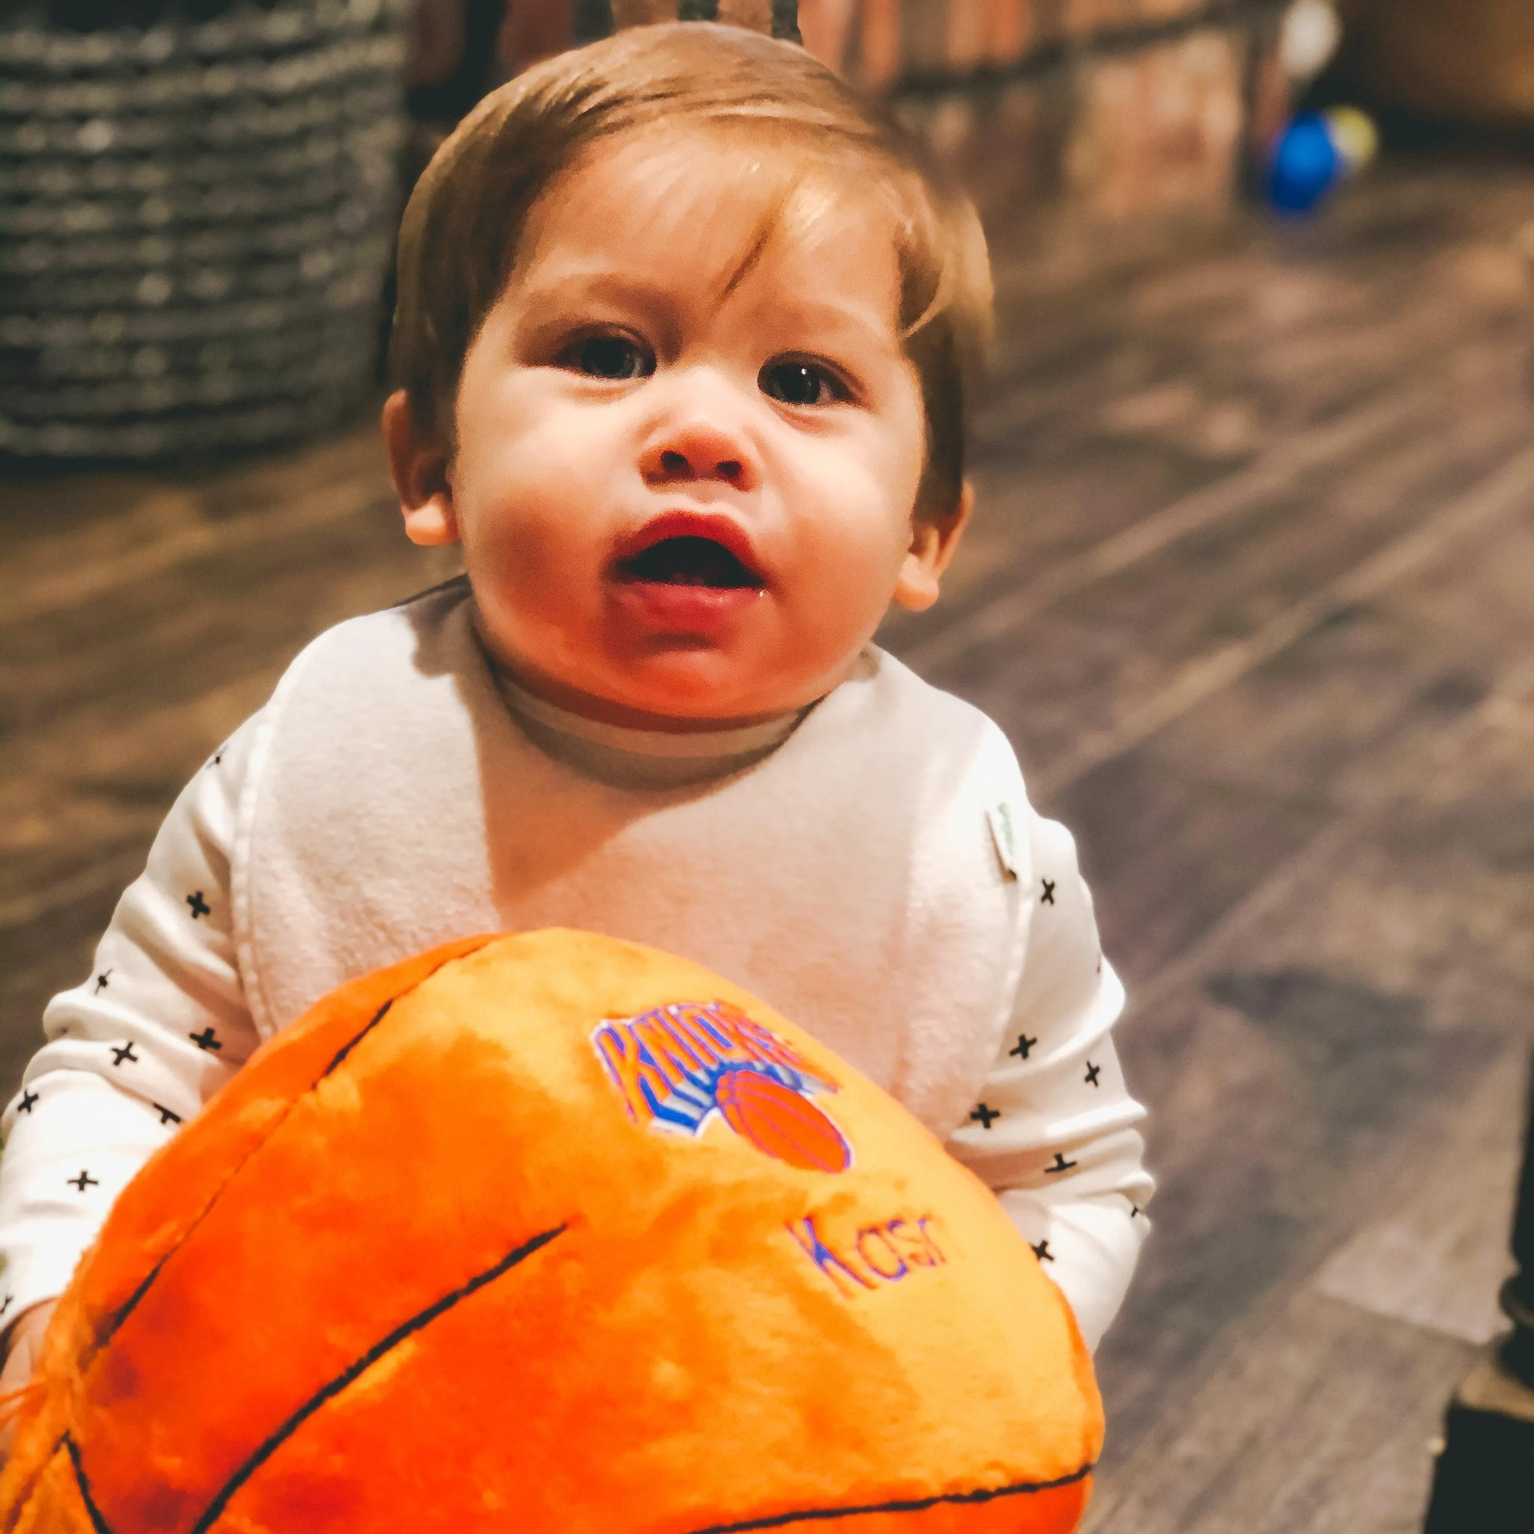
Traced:
POLYGON ((43 1014, 0 1117, 0 1327, 63 1292, 127 1181, 256 1046, 229 848, 258 719, 183 790, 91 976, 43 1014))

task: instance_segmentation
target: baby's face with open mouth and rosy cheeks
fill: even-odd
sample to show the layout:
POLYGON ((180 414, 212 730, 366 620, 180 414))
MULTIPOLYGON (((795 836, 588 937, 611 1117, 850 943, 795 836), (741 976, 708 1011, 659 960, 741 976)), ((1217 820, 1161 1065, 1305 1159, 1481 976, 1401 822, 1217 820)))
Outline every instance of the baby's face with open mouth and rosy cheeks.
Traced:
POLYGON ((923 413, 888 216, 841 198, 746 262, 758 158, 667 137, 581 163, 465 359, 448 494, 483 638, 597 718, 807 704, 945 558, 913 529, 923 413))

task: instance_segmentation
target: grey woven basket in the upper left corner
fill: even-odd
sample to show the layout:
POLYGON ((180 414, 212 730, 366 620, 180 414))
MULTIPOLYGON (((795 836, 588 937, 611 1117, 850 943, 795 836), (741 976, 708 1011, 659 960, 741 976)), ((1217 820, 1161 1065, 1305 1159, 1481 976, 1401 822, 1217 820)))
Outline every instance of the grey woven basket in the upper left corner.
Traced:
POLYGON ((373 380, 410 0, 202 9, 0 20, 3 453, 296 439, 373 380))

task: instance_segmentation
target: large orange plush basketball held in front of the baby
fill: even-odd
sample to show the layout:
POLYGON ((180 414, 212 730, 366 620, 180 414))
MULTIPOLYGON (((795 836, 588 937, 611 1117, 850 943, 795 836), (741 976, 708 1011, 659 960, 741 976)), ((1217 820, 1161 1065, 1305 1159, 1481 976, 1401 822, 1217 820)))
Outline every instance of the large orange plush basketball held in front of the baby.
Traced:
POLYGON ((891 1098, 719 977, 472 939, 262 1048, 43 1350, 15 1534, 1066 1534, 1058 1290, 891 1098))

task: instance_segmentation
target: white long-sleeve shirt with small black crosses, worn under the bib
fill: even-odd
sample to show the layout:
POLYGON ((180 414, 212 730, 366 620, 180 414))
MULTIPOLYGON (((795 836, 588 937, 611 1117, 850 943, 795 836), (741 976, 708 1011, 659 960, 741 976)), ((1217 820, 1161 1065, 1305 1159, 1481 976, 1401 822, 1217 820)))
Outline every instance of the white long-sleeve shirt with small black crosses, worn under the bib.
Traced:
MULTIPOLYGON (((669 736, 592 724, 505 683, 502 695, 540 750, 609 784, 749 773, 799 723, 669 736)), ((44 1012, 48 1042, 0 1118, 0 1325, 61 1293, 118 1192, 270 1031, 249 994, 232 865, 279 715, 268 706, 249 719, 184 788, 91 976, 44 1012)), ((1069 834, 1026 799, 988 815, 1003 877, 1029 881, 1019 893, 1026 951, 1000 1048, 946 1144, 997 1190, 1095 1345, 1127 1287, 1152 1190, 1134 1127, 1143 1109, 1109 1035, 1123 989, 1101 959, 1069 834)))

